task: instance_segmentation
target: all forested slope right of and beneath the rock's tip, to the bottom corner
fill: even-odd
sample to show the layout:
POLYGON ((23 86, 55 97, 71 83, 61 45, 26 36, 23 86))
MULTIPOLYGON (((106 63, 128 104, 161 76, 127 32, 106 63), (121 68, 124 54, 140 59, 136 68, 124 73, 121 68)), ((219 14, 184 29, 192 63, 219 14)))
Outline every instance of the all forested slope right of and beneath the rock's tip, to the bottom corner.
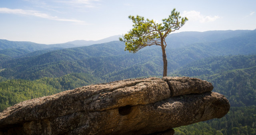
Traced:
MULTIPOLYGON (((206 58, 176 71, 178 76, 198 77, 225 95, 231 108, 221 119, 176 128, 176 135, 256 135, 256 56, 206 58), (184 73, 184 75, 183 75, 184 73)), ((177 74, 176 74, 177 75, 177 74)), ((174 75, 175 76, 175 75, 174 75)))

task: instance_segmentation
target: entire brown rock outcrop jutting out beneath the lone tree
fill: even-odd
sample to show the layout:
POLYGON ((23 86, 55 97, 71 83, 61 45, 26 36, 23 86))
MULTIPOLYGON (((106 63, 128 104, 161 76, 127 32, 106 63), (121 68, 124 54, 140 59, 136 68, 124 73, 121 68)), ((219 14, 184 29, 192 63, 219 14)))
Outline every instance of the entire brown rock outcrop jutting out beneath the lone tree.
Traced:
POLYGON ((0 134, 150 134, 221 118, 226 97, 190 77, 127 79, 88 85, 8 107, 0 134))

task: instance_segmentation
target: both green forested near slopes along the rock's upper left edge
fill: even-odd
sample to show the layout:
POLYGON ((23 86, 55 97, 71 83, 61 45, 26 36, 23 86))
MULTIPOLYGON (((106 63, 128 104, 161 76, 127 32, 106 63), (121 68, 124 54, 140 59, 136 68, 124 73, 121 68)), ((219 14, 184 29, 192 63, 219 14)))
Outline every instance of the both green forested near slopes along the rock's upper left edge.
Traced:
POLYGON ((43 77, 34 81, 23 79, 1 81, 0 111, 21 101, 95 83, 102 83, 102 81, 100 78, 86 73, 71 73, 58 78, 43 77))

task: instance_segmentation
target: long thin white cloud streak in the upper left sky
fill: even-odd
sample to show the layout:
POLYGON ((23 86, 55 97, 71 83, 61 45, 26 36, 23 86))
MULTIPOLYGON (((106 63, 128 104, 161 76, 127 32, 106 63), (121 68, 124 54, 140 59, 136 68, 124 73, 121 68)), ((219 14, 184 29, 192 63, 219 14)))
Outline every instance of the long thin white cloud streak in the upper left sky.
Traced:
POLYGON ((81 20, 58 18, 57 16, 50 16, 48 14, 44 14, 44 13, 41 13, 41 12, 36 11, 36 10, 0 8, 0 13, 36 16, 36 17, 45 18, 45 19, 49 19, 49 20, 65 21, 65 22, 76 22, 76 23, 80 23, 80 24, 85 24, 85 22, 81 21, 81 20))

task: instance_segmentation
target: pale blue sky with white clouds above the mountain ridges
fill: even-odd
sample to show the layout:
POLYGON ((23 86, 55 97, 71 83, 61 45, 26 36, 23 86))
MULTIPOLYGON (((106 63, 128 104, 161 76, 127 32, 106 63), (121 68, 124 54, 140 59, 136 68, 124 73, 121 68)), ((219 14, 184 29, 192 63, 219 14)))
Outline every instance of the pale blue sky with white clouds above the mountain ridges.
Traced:
POLYGON ((101 40, 132 29, 129 15, 158 23, 176 8, 176 32, 255 30, 256 0, 0 0, 0 39, 58 44, 101 40))

